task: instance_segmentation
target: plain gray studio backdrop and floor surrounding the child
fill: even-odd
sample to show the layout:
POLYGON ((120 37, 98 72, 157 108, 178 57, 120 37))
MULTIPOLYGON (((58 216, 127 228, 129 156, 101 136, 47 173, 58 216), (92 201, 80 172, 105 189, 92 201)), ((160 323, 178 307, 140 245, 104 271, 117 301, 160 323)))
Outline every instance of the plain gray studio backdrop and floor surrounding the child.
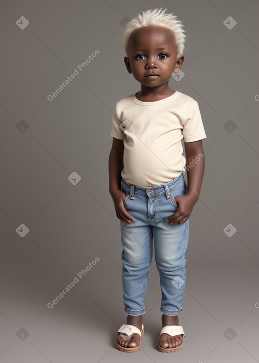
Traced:
POLYGON ((3 0, 0 13, 1 363, 258 362, 258 1, 3 0), (157 351, 153 261, 142 348, 132 355, 115 347, 126 314, 108 155, 115 103, 140 89, 123 63, 124 18, 155 7, 185 26, 185 76, 170 87, 199 104, 206 170, 190 218, 184 347, 157 351), (29 21, 23 30, 21 16, 29 21))

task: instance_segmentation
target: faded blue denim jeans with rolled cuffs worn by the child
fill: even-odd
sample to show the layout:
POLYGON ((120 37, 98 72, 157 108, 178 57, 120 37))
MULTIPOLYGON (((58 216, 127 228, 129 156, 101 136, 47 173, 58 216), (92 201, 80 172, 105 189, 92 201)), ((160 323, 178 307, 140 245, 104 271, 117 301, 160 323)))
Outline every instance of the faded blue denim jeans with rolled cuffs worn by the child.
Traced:
POLYGON ((129 315, 146 312, 144 299, 154 237, 162 292, 160 310, 165 315, 179 315, 185 289, 189 219, 183 224, 170 225, 164 218, 177 211, 175 197, 186 194, 183 174, 168 183, 150 187, 135 186, 122 179, 121 190, 126 193, 123 201, 126 211, 136 219, 131 224, 120 221, 124 311, 129 315))

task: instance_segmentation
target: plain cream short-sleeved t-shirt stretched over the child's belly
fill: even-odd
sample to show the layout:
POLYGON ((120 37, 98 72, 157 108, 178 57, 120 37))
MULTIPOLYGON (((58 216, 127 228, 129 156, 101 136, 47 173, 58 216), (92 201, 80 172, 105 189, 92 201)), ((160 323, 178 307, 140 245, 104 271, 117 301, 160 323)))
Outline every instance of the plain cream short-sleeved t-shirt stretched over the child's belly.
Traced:
POLYGON ((135 94, 117 102, 111 136, 124 142, 121 177, 141 187, 175 179, 186 163, 181 140, 206 138, 197 101, 178 91, 154 102, 135 94))

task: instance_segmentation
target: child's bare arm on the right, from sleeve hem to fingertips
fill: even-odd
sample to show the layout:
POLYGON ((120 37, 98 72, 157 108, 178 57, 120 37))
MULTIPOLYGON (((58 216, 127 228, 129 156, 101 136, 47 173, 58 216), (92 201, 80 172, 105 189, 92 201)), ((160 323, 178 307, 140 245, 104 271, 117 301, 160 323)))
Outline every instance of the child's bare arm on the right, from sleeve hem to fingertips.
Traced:
POLYGON ((187 193, 175 197, 179 208, 177 212, 165 218, 169 224, 182 224, 186 222, 200 195, 205 167, 202 141, 186 142, 185 153, 188 180, 187 193))

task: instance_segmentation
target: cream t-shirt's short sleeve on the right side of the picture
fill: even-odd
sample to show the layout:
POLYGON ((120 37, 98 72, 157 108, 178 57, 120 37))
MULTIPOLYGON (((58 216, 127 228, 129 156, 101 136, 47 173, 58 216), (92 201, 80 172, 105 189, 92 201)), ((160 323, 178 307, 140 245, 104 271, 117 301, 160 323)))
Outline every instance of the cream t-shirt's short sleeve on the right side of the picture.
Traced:
POLYGON ((184 142, 193 142, 206 138, 199 105, 197 102, 191 107, 183 125, 184 142))

